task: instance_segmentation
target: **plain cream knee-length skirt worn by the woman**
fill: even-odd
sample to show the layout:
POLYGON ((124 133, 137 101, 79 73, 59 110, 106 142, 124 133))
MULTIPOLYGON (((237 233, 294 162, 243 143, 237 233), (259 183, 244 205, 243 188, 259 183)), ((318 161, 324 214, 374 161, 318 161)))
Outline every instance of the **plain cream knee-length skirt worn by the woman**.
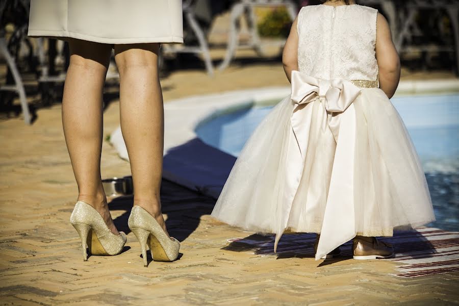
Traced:
POLYGON ((183 43, 181 0, 32 0, 29 36, 183 43))

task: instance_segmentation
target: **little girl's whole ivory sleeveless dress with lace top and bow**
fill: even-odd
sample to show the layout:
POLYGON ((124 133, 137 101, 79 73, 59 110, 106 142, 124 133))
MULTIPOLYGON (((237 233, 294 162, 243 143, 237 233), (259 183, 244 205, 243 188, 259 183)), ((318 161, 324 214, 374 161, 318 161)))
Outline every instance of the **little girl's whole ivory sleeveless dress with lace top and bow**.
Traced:
POLYGON ((406 128, 377 88, 377 10, 303 7, 292 93, 245 144, 212 216, 248 231, 320 233, 316 260, 356 235, 435 220, 406 128))

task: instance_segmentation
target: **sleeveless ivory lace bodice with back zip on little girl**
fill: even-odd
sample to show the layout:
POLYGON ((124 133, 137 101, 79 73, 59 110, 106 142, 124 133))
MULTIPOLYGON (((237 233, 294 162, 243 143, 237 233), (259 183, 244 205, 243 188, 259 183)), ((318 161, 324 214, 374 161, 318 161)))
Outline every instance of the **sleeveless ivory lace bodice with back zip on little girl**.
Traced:
POLYGON ((375 81, 377 10, 316 5, 298 15, 298 69, 314 78, 375 81))

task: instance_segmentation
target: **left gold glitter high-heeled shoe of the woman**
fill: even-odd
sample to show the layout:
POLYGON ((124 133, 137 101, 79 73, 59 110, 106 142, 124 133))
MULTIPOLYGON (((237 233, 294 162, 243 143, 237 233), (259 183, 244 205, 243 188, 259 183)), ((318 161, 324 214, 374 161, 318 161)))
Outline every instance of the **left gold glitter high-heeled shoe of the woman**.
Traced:
POLYGON ((126 243, 126 234, 113 234, 102 216, 85 202, 75 204, 70 223, 80 235, 84 261, 88 260, 86 248, 92 255, 117 255, 126 243))

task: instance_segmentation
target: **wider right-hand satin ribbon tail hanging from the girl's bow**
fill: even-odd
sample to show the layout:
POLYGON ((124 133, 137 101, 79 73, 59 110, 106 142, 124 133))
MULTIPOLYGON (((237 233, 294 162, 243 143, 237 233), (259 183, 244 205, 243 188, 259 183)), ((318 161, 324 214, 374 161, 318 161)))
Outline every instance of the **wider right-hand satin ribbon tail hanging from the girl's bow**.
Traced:
POLYGON ((339 139, 317 246, 316 260, 355 237, 354 150, 355 108, 351 104, 339 115, 339 139))

